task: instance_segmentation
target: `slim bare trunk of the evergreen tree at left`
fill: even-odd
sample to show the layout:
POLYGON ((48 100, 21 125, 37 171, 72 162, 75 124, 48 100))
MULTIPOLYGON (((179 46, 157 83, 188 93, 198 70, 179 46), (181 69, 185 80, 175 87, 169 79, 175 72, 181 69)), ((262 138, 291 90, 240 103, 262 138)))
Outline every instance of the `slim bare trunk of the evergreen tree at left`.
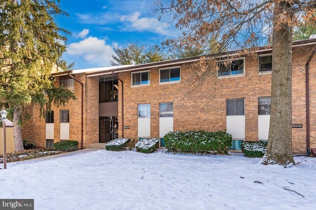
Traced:
POLYGON ((14 137, 14 147, 15 151, 23 151, 23 140, 22 140, 22 129, 20 126, 20 116, 21 109, 17 105, 14 106, 14 115, 13 115, 13 137, 14 137))

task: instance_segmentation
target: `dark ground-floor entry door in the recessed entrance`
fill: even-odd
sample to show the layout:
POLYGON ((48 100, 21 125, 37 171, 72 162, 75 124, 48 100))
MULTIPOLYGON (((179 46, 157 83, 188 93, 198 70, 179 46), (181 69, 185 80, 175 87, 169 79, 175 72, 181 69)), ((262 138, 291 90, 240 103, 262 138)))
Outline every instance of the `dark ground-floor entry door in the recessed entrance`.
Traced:
POLYGON ((99 142, 106 143, 113 140, 113 118, 112 117, 100 117, 99 119, 99 142))

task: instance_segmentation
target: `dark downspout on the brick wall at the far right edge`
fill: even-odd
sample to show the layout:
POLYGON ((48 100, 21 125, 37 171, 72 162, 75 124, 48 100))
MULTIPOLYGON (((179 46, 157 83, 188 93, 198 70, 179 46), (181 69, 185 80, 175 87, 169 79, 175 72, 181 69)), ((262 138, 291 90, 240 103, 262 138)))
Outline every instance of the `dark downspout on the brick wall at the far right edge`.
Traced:
POLYGON ((314 57, 316 53, 316 48, 313 50, 310 58, 306 62, 305 65, 305 75, 306 75, 306 149, 307 149, 307 154, 306 155, 293 155, 295 156, 307 156, 309 157, 311 154, 310 151, 310 84, 309 84, 309 77, 310 77, 310 62, 312 58, 314 57))

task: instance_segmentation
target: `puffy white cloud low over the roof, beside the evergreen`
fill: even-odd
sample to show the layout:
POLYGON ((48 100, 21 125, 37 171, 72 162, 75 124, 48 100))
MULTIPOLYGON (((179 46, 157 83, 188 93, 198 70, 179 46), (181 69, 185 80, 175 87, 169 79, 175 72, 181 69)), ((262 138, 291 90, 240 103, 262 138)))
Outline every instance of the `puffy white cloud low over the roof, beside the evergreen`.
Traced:
POLYGON ((104 39, 89 36, 79 42, 71 43, 67 48, 67 54, 82 57, 91 64, 101 66, 109 65, 112 59, 113 47, 106 44, 104 39))

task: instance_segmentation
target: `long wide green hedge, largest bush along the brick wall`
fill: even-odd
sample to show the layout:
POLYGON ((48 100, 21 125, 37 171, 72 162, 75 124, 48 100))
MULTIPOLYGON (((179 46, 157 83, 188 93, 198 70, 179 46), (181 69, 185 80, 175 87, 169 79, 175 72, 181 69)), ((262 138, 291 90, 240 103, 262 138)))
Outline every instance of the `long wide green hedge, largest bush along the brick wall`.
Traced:
POLYGON ((232 135, 225 131, 205 132, 169 132, 164 137, 165 147, 168 151, 184 153, 215 153, 227 154, 232 145, 232 135))

